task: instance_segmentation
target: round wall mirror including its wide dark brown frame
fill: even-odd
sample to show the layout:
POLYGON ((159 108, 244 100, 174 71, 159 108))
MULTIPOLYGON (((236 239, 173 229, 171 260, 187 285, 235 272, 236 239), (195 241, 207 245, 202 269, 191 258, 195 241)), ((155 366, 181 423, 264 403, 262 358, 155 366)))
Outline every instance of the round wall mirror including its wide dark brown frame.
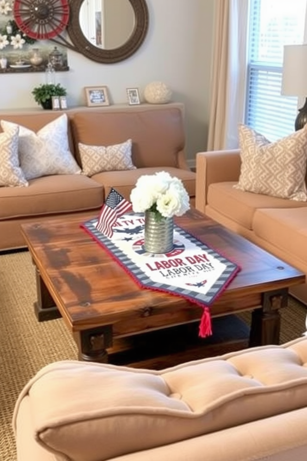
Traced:
POLYGON ((147 29, 145 0, 74 0, 67 26, 76 50, 104 64, 135 53, 147 29))

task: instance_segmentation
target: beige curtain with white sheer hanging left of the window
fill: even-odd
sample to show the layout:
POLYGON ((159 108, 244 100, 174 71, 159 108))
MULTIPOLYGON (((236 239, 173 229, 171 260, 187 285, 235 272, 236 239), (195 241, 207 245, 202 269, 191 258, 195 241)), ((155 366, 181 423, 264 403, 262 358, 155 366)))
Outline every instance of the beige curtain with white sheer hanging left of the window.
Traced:
POLYGON ((215 0, 214 7, 207 150, 237 147, 237 124, 243 122, 247 74, 249 0, 215 0))

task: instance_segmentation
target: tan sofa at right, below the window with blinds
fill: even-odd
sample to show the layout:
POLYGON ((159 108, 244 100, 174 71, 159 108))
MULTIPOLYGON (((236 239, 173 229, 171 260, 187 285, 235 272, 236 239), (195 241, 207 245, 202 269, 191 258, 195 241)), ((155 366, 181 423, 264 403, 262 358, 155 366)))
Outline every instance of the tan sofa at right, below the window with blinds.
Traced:
MULTIPOLYGON (((233 188, 239 150, 200 152, 196 165, 198 210, 307 274, 307 202, 233 188)), ((290 291, 307 304, 307 284, 290 291)))

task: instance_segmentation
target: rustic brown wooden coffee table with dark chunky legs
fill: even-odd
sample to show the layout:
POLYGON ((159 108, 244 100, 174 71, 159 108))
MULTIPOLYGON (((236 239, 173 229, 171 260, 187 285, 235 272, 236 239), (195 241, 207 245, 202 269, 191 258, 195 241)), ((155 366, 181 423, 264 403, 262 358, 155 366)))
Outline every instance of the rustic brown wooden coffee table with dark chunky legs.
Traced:
MULTIPOLYGON (((287 306, 288 288, 303 283, 305 275, 195 209, 175 221, 241 267, 214 301, 211 317, 252 311, 249 346, 278 344, 279 310, 287 306)), ((22 226, 36 267, 38 320, 62 316, 80 360, 117 363, 121 356, 120 363, 156 366, 152 352, 163 355, 162 337, 185 344, 179 360, 199 358, 202 340, 195 325, 202 307, 139 288, 80 224, 80 218, 70 218, 22 226), (197 341, 189 348, 191 336, 197 341), (145 359, 147 346, 151 356, 145 359)), ((166 365, 176 354, 178 361, 178 352, 168 350, 166 365)))

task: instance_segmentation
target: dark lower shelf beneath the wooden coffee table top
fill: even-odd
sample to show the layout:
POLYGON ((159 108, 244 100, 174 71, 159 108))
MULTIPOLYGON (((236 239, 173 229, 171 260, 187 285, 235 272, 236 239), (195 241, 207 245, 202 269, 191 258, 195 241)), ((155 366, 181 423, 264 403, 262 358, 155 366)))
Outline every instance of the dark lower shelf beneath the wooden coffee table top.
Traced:
POLYGON ((212 319, 214 334, 198 336, 199 322, 115 339, 107 349, 108 363, 162 369, 249 346, 249 325, 236 315, 212 319))

